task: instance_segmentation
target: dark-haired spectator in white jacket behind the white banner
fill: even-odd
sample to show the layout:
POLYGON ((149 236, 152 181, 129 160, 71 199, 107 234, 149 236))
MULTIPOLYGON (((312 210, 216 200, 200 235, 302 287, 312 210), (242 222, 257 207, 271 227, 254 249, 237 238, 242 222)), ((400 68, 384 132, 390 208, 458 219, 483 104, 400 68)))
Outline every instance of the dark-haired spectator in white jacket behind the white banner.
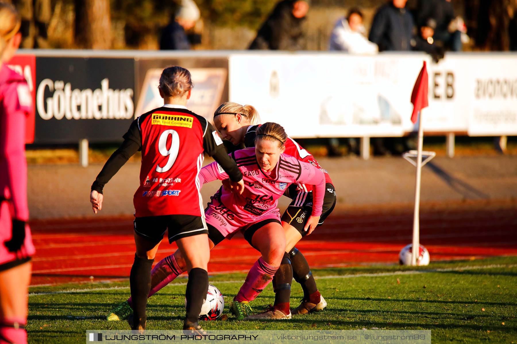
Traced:
POLYGON ((362 12, 358 8, 348 11, 346 18, 341 18, 334 25, 330 35, 330 51, 344 51, 353 54, 375 54, 377 44, 364 37, 362 12))

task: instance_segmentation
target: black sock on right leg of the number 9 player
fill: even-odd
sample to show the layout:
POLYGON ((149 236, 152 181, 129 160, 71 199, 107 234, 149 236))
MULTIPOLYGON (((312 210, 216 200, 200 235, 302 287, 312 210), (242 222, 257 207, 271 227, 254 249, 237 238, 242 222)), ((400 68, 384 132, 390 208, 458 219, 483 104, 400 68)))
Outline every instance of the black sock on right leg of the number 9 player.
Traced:
POLYGON ((201 268, 193 268, 189 272, 189 281, 187 282, 187 316, 186 320, 191 323, 199 320, 201 306, 208 292, 208 272, 201 268))

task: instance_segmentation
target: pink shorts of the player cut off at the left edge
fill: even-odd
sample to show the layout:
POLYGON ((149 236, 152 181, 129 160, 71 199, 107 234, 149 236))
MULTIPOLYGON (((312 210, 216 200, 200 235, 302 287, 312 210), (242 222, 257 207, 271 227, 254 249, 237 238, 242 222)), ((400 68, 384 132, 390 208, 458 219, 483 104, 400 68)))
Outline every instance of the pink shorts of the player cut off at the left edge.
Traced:
POLYGON ((0 271, 16 267, 31 259, 36 253, 32 242, 31 230, 25 225, 25 242, 20 251, 9 252, 4 242, 9 241, 11 232, 11 211, 8 202, 1 202, 0 206, 0 271))

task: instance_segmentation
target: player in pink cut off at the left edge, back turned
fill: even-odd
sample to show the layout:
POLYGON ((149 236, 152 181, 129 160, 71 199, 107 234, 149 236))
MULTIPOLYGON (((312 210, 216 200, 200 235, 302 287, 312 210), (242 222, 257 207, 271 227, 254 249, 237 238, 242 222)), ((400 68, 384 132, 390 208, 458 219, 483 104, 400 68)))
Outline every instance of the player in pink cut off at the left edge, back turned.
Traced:
POLYGON ((35 249, 26 221, 25 118, 32 97, 7 67, 21 42, 17 11, 0 3, 0 343, 26 343, 27 293, 35 249))

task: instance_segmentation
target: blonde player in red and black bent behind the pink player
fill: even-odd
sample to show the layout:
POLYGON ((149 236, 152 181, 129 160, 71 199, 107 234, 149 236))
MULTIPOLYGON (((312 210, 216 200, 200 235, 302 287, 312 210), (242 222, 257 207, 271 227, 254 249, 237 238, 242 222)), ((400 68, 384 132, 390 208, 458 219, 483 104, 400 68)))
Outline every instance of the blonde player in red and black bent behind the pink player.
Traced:
MULTIPOLYGON (((257 118, 258 113, 251 105, 242 106, 236 103, 225 103, 216 110, 214 124, 223 138, 234 144, 245 143, 247 147, 250 147, 254 145, 257 128, 260 127, 260 124, 256 124, 258 122, 257 118)), ((336 205, 336 189, 332 185, 330 176, 307 150, 290 137, 287 137, 285 141, 285 153, 296 157, 300 161, 309 162, 324 172, 326 192, 323 214, 318 226, 322 225, 336 205)), ((276 309, 281 309, 283 312, 288 309, 293 277, 295 281, 301 284, 304 294, 301 304, 293 310, 293 314, 306 314, 322 310, 327 305, 316 287, 307 260, 295 247, 296 243, 308 234, 304 231, 304 226, 313 203, 311 190, 311 185, 298 183, 297 185, 291 185, 285 193, 293 201, 282 215, 282 227, 286 237, 286 255, 273 280, 275 304, 271 309, 267 309, 263 314, 253 316, 253 318, 275 317, 276 309)))

